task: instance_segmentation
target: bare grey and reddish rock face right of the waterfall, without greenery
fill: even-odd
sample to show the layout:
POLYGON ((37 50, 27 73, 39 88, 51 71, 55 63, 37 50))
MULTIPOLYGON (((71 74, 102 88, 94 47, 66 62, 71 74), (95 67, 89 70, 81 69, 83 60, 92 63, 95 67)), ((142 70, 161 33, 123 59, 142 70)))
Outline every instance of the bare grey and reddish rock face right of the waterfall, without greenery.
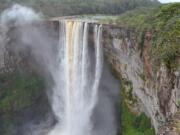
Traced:
MULTIPOLYGON (((132 91, 124 89, 125 93, 131 92, 132 99, 127 99, 126 104, 135 113, 145 112, 152 120, 156 132, 159 134, 163 126, 168 127, 168 121, 175 118, 179 122, 178 100, 180 99, 180 71, 169 72, 162 62, 154 71, 153 62, 150 60, 149 51, 152 45, 152 34, 146 32, 143 49, 139 49, 136 34, 126 28, 105 26, 103 31, 103 45, 107 61, 111 64, 116 75, 121 80, 131 82, 132 91)), ((122 85, 124 81, 121 81, 122 85)), ((173 124, 171 124, 172 126, 173 124)), ((179 134, 178 124, 169 129, 167 135, 179 134), (173 130, 171 132, 171 130, 173 130)))

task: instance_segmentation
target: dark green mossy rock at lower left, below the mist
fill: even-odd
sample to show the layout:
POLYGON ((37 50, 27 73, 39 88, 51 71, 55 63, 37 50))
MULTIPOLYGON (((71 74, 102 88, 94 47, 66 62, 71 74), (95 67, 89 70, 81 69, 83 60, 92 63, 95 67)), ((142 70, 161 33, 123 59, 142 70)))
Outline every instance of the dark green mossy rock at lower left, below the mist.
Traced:
POLYGON ((0 134, 24 134, 27 123, 45 121, 51 108, 44 89, 44 80, 36 73, 0 75, 0 134))

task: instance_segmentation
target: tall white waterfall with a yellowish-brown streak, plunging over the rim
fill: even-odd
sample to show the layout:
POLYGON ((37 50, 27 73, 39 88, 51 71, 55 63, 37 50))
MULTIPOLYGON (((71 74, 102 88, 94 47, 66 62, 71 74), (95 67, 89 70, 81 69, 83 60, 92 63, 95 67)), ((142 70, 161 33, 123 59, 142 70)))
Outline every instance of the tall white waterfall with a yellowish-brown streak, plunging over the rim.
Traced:
POLYGON ((101 26, 94 26, 95 56, 88 45, 90 24, 59 22, 59 55, 53 73, 52 108, 57 118, 49 135, 92 135, 91 116, 102 72, 101 26))

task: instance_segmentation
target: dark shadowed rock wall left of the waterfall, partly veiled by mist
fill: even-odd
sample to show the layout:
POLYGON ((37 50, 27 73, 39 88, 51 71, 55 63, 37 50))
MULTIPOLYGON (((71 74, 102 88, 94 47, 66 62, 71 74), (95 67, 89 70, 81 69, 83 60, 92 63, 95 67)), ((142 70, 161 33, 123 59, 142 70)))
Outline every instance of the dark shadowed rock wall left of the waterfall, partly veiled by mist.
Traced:
MULTIPOLYGON (((23 29, 25 31, 22 33, 22 28, 14 25, 7 29, 0 26, 0 134, 2 135, 44 135, 56 122, 46 95, 44 80, 41 80, 42 84, 41 81, 34 83, 38 78, 42 79, 44 71, 37 66, 32 57, 34 54, 28 48, 28 42, 24 42, 27 39, 23 40, 22 35, 26 33, 25 37, 30 39, 28 41, 31 44, 31 41, 41 38, 37 37, 35 31, 34 33, 30 31, 33 27, 28 29, 25 26, 25 28, 27 29, 23 29)), ((34 43, 38 44, 38 41, 34 43)))

